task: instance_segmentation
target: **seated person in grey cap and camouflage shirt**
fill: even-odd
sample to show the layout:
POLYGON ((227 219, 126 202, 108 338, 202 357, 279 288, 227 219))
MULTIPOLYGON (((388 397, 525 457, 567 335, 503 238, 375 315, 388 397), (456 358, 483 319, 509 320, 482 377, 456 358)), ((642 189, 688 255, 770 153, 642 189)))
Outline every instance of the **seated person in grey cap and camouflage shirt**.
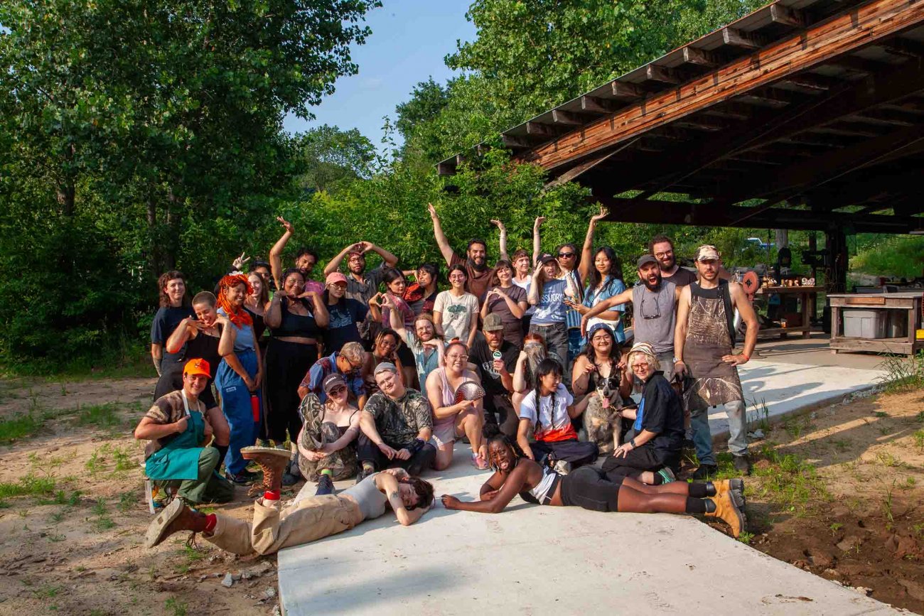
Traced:
POLYGON ((369 397, 359 415, 357 481, 390 466, 418 476, 436 458, 436 448, 429 442, 432 407, 422 393, 404 386, 395 364, 379 364, 374 376, 380 391, 369 397))

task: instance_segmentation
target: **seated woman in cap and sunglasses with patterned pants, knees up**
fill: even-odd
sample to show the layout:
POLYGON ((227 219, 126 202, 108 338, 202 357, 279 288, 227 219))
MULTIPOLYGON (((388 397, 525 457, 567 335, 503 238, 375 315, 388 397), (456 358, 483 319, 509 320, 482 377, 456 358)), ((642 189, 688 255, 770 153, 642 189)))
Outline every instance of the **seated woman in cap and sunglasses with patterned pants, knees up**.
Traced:
POLYGON ((318 482, 315 496, 333 494, 334 481, 354 477, 358 470, 359 409, 349 404, 346 380, 339 374, 329 374, 322 387, 326 402, 309 393, 298 409, 298 470, 308 481, 318 482))

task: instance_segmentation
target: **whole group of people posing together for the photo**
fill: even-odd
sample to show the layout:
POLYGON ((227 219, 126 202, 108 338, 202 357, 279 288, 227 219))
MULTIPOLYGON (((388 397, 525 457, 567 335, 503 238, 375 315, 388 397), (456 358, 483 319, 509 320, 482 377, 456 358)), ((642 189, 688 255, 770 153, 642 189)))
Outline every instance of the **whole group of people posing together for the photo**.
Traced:
POLYGON ((135 436, 150 441, 147 476, 178 498, 152 522, 149 545, 188 529, 236 553, 269 553, 388 507, 411 524, 433 500, 419 476, 451 465, 460 440, 472 465, 494 472, 480 501, 443 497, 450 509, 496 513, 519 493, 600 511, 715 515, 741 532, 743 481, 711 481, 708 412, 723 407, 735 467, 747 475, 736 367, 758 325, 718 250, 699 247, 692 272, 655 236, 638 283, 626 286, 614 250, 593 246, 604 209, 579 250, 541 252, 540 217, 531 254, 512 258, 493 220, 500 259, 490 264, 481 239, 456 254, 428 208, 444 290, 436 265, 402 270, 364 241, 330 260, 323 282, 312 279, 309 248, 284 269, 295 229, 281 218, 269 261, 244 273, 242 254, 214 292, 190 301, 182 273, 161 276, 160 378, 135 436), (382 263, 368 269, 371 252, 382 263), (738 320, 746 333, 735 353, 738 320), (674 481, 688 440, 699 459, 692 484, 674 481), (351 477, 356 486, 334 495, 334 481, 351 477), (310 483, 282 508, 281 488, 301 479, 310 483), (252 525, 188 507, 232 499, 233 484, 259 496, 252 525))

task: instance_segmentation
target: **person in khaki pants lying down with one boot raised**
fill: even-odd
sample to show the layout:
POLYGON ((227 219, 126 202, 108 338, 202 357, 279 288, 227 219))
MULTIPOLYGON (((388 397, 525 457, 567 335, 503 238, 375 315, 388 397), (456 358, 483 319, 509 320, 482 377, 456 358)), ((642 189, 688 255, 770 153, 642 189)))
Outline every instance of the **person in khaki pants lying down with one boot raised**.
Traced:
POLYGON ((288 452, 270 447, 247 447, 241 454, 261 465, 267 490, 253 505, 253 522, 230 515, 200 513, 176 500, 148 526, 145 545, 162 543, 172 534, 188 530, 201 533, 222 550, 247 555, 272 554, 322 537, 349 530, 363 520, 385 513, 389 507, 401 525, 412 525, 427 512, 433 487, 402 469, 389 469, 366 477, 340 494, 312 496, 282 506, 279 490, 288 452))

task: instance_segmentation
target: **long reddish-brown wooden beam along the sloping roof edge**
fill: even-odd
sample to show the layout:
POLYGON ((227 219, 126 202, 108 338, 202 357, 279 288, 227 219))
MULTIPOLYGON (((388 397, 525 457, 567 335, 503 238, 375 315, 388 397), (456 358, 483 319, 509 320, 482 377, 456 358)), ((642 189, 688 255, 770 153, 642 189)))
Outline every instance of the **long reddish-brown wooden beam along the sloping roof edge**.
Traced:
POLYGON ((774 42, 759 54, 739 58, 669 92, 652 94, 643 103, 630 104, 614 117, 602 118, 580 132, 564 135, 555 146, 536 148, 521 160, 553 168, 612 147, 620 140, 637 137, 651 127, 663 126, 703 107, 757 91, 794 71, 853 53, 921 21, 924 21, 924 3, 871 0, 849 13, 835 15, 804 32, 774 42))

